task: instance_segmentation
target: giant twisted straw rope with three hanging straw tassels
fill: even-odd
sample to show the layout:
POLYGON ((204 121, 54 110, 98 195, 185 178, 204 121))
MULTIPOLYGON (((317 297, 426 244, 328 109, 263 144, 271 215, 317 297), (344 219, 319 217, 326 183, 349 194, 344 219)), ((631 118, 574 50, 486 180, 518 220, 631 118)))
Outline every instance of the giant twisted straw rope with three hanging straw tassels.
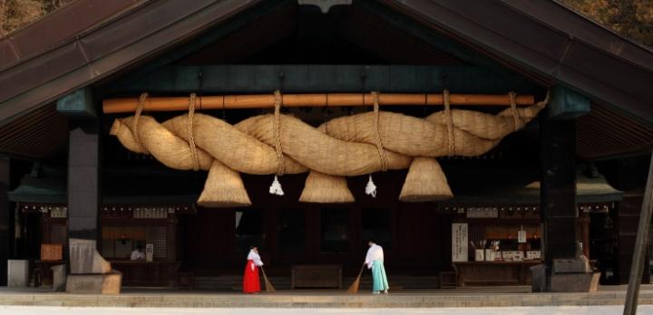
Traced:
MULTIPOLYGON (((239 173, 297 174, 309 171, 300 201, 353 202, 345 177, 409 167, 400 200, 432 201, 453 194, 435 157, 479 156, 509 133, 535 118, 548 101, 496 115, 454 110, 444 91, 444 110, 421 119, 378 110, 336 119, 314 128, 280 113, 282 97, 275 92, 275 114, 259 115, 230 125, 196 113, 195 95, 189 113, 162 123, 141 115, 115 119, 111 134, 125 148, 151 154, 176 169, 209 170, 198 203, 204 206, 251 205, 239 173), (328 124, 328 129, 327 129, 328 124)), ((141 95, 142 104, 147 94, 141 95)))

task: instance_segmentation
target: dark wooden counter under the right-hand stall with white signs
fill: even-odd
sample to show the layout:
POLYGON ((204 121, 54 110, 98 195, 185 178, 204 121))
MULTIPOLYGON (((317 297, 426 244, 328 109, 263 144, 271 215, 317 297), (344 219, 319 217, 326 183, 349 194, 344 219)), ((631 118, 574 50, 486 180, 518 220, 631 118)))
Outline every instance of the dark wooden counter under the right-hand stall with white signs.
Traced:
POLYGON ((465 285, 529 285, 531 266, 541 260, 522 262, 453 262, 458 287, 465 285))

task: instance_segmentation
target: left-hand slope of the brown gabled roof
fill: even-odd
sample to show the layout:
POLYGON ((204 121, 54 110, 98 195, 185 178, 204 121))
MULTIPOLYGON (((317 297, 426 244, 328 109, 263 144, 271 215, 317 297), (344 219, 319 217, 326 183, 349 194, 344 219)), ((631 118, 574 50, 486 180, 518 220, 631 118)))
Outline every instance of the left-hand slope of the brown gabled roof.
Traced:
POLYGON ((182 43, 258 1, 138 1, 122 11, 114 8, 111 16, 98 14, 102 5, 95 2, 78 0, 78 10, 60 10, 36 23, 39 29, 55 29, 62 21, 93 13, 85 29, 60 35, 61 42, 52 43, 30 27, 0 42, 4 56, 7 46, 14 50, 15 43, 35 42, 34 53, 21 52, 22 59, 0 59, 0 123, 182 43))

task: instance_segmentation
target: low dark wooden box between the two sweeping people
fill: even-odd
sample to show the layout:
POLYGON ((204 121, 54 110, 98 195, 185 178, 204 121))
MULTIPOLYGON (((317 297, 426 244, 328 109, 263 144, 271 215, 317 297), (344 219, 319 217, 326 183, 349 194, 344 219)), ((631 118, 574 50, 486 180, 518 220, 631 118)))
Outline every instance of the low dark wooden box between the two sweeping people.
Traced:
POLYGON ((295 288, 342 288, 342 265, 296 264, 292 267, 290 287, 295 288))

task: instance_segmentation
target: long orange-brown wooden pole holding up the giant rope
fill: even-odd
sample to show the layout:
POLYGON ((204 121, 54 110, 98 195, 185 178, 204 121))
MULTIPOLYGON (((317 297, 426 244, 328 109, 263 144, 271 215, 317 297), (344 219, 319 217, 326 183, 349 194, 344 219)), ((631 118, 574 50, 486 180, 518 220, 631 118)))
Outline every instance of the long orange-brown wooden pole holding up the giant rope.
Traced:
MULTIPOLYGON (((276 96, 262 95, 219 95, 199 97, 195 101, 196 110, 233 110, 233 109, 264 109, 274 108, 276 96)), ((335 107, 335 106, 372 106, 374 99, 371 93, 326 93, 326 94, 282 94, 283 107, 335 107)), ((139 98, 108 99, 102 103, 104 113, 133 112, 139 104, 139 98)), ((451 105, 473 106, 510 106, 509 95, 474 95, 451 94, 451 105)), ((535 99, 532 95, 516 97, 518 106, 532 105, 535 99)), ((411 106, 411 105, 443 105, 443 94, 380 94, 380 106, 411 106)), ((148 98, 143 103, 143 110, 174 111, 188 110, 189 98, 148 98)))

